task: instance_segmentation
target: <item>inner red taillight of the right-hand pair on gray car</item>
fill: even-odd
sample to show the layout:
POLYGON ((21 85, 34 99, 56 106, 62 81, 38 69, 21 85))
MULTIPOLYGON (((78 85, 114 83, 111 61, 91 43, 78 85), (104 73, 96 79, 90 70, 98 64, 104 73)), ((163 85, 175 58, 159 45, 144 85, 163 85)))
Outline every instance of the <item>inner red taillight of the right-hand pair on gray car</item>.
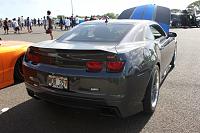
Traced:
POLYGON ((86 63, 87 71, 100 72, 103 69, 103 62, 90 61, 86 63))

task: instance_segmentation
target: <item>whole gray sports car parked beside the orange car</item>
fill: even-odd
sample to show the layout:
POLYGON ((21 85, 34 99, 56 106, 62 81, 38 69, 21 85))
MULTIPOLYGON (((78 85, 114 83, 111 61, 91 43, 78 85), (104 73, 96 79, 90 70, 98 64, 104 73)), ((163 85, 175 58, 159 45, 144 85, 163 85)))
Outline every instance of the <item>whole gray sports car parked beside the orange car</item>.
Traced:
POLYGON ((23 61, 31 97, 127 117, 155 111, 175 66, 176 33, 153 21, 82 23, 53 41, 30 46, 23 61))

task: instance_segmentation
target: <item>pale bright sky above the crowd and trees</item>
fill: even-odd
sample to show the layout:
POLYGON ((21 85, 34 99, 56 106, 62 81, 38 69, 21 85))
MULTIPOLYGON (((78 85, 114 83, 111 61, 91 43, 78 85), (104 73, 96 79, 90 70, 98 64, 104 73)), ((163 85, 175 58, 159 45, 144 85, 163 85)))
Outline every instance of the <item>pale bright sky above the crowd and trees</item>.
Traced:
POLYGON ((144 4, 157 4, 171 9, 185 9, 195 0, 0 0, 0 18, 19 16, 41 18, 50 10, 52 16, 120 14, 123 10, 144 4))

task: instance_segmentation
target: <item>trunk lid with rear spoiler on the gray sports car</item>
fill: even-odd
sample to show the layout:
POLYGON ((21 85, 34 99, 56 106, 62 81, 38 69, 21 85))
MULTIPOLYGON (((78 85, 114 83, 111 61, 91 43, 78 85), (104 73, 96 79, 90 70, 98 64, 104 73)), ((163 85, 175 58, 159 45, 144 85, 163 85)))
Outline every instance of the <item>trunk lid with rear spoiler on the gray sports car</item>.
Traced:
POLYGON ((41 64, 65 68, 85 69, 88 61, 114 60, 114 44, 105 43, 57 43, 49 41, 33 45, 29 53, 40 57, 41 64), (112 59, 113 58, 113 59, 112 59))

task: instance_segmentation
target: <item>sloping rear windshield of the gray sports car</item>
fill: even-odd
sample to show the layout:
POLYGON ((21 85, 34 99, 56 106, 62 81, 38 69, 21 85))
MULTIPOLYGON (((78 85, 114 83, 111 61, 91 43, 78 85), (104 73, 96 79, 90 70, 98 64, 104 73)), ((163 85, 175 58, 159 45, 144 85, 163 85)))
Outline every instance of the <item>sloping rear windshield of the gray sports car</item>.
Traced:
POLYGON ((132 28, 132 24, 82 24, 65 33, 57 41, 120 42, 132 28))

